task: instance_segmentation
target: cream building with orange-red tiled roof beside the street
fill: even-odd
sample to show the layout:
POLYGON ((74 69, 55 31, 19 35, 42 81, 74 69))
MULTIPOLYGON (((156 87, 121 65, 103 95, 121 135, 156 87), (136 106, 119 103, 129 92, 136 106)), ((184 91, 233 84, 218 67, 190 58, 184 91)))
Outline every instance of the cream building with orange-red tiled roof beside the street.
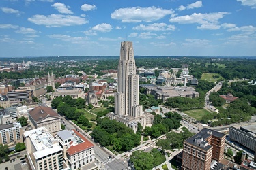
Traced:
POLYGON ((59 131, 55 137, 63 148, 63 158, 70 169, 78 169, 94 162, 94 145, 78 131, 59 131))

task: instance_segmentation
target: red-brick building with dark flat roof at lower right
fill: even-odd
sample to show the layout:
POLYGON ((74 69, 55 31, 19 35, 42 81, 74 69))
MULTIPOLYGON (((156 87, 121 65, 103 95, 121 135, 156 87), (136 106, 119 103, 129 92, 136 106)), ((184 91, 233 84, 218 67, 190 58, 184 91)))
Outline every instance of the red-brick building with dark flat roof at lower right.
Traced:
POLYGON ((184 141, 182 169, 210 170, 212 159, 224 157, 225 134, 204 128, 184 141))

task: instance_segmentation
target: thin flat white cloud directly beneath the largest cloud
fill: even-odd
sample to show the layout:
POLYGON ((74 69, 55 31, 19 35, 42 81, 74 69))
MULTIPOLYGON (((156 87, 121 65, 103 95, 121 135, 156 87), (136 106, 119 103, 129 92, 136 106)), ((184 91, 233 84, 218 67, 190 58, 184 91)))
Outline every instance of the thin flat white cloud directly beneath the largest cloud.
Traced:
POLYGON ((174 25, 167 25, 165 23, 154 23, 154 24, 140 24, 139 26, 133 27, 134 30, 143 30, 143 31, 166 31, 166 30, 175 30, 174 25))

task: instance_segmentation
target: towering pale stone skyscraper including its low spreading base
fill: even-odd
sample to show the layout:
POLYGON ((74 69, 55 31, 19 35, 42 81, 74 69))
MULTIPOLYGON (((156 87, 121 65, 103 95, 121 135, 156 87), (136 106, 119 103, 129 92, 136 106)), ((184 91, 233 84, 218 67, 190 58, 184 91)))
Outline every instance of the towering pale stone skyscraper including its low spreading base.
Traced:
POLYGON ((139 105, 139 75, 136 74, 132 42, 121 43, 117 77, 115 114, 111 112, 107 116, 126 124, 135 133, 138 123, 143 127, 150 125, 154 115, 144 113, 142 105, 139 105))

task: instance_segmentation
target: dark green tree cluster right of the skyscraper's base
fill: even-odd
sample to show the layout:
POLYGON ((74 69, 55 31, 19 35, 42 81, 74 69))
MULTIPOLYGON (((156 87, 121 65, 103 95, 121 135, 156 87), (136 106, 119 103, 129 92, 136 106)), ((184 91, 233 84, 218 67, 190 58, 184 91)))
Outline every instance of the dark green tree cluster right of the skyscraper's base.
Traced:
POLYGON ((180 121, 182 116, 177 112, 168 112, 165 114, 165 118, 160 115, 156 115, 154 118, 153 125, 151 127, 145 127, 145 135, 152 137, 160 137, 172 129, 178 129, 180 127, 180 121))

